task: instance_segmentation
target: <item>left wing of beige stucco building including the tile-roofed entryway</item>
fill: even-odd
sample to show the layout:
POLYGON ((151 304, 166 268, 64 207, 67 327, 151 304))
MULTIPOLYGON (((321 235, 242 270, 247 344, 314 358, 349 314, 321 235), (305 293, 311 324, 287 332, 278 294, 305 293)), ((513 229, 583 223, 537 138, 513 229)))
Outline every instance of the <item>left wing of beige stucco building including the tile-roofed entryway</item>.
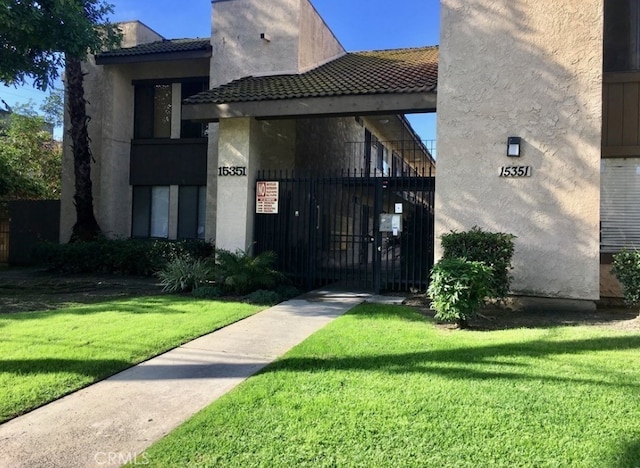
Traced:
MULTIPOLYGON (((391 212, 414 226, 421 220, 432 239, 432 221, 422 228, 432 196, 404 187, 383 200, 371 190, 383 190, 382 175, 435 173, 404 114, 435 111, 437 47, 347 52, 309 0, 214 1, 209 38, 167 40, 136 21, 121 27, 123 46, 85 64, 95 211, 107 236, 200 238, 245 250, 256 240, 258 171, 295 171, 295 180, 335 177, 309 193, 291 176, 286 189, 282 181, 282 209, 273 214, 288 227, 277 236, 290 236, 283 248, 301 262, 313 258, 331 279, 344 267, 380 282, 384 256, 399 284, 415 263, 408 257, 433 257, 415 235, 407 247, 399 224, 384 237, 378 226, 391 212), (350 181, 336 176, 345 170, 350 181), (402 204, 408 211, 394 212, 402 204)), ((67 152, 63 241, 75 216, 71 163, 67 152)), ((419 269, 426 278, 426 261, 419 269)))

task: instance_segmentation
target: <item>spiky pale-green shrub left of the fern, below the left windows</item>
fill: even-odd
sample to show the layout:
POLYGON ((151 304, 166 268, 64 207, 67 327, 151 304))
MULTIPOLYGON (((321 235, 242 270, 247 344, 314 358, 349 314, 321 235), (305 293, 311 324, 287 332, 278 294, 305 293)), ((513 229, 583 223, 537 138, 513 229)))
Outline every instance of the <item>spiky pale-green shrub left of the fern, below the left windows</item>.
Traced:
POLYGON ((207 260, 193 259, 188 255, 170 260, 157 275, 163 291, 189 292, 205 284, 213 269, 207 260))

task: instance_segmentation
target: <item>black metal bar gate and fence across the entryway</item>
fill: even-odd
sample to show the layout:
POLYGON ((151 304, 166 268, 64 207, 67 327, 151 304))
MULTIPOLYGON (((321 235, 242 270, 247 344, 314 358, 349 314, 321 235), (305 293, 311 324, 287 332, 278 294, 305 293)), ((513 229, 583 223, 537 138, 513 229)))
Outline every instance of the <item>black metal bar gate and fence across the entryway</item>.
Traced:
POLYGON ((273 250, 295 284, 424 291, 433 266, 435 177, 263 171, 276 213, 256 214, 255 252, 273 250))

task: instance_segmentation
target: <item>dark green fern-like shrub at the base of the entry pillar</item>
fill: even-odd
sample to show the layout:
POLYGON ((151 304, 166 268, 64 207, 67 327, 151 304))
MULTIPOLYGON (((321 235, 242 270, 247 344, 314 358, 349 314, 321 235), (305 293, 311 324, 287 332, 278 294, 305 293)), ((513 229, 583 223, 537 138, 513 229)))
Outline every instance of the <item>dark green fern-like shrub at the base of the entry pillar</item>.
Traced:
POLYGON ((244 250, 216 251, 216 283, 231 294, 245 295, 258 289, 273 289, 285 281, 273 268, 276 254, 271 251, 252 256, 244 250))

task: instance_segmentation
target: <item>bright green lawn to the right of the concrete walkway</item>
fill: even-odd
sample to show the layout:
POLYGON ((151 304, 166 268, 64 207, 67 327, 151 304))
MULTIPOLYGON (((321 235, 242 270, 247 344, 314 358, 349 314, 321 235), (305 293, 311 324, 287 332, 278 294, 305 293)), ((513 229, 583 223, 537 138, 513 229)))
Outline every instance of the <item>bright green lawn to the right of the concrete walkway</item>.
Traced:
POLYGON ((364 305, 225 395, 154 467, 640 466, 640 333, 438 328, 364 305))

